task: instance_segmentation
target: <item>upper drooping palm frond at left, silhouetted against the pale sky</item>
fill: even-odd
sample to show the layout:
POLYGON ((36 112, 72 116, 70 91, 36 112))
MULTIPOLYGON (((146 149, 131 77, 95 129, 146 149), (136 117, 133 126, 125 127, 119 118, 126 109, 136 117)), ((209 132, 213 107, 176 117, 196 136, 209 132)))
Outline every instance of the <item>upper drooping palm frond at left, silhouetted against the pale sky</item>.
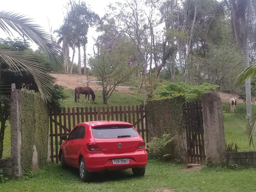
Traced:
POLYGON ((32 40, 47 54, 51 70, 62 69, 61 48, 52 41, 50 34, 39 25, 33 24, 31 18, 14 12, 0 11, 0 28, 9 35, 13 36, 12 30, 14 30, 19 35, 32 40))

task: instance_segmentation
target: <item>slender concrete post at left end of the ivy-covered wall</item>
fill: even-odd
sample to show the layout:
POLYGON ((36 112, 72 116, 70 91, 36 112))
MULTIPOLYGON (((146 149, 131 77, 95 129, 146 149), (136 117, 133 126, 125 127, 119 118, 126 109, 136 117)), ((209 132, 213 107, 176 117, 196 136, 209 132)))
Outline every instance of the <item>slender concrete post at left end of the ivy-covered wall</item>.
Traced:
POLYGON ((21 91, 15 89, 12 84, 11 102, 10 102, 10 123, 11 123, 11 159, 12 159, 12 176, 21 177, 22 168, 20 164, 20 148, 22 146, 22 134, 20 133, 20 122, 22 116, 21 108, 21 91))

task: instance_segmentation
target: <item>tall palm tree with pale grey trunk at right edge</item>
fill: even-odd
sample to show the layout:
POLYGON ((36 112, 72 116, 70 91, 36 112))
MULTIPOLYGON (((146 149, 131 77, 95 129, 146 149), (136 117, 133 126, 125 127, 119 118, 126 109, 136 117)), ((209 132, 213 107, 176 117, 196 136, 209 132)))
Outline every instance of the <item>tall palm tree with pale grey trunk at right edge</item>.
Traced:
MULTIPOLYGON (((222 6, 231 11, 231 26, 234 37, 244 58, 244 67, 247 69, 249 63, 248 38, 255 32, 255 0, 223 0, 222 6)), ((240 78, 241 79, 241 78, 240 78)), ((251 117, 251 87, 250 76, 245 80, 246 91, 246 113, 251 117)))

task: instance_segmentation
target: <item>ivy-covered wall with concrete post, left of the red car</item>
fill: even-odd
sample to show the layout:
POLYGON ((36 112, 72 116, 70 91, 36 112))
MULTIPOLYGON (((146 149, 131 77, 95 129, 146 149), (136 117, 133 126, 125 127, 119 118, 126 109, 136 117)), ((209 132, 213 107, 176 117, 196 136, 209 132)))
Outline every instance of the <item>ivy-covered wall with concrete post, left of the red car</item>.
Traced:
POLYGON ((49 116, 47 104, 38 93, 16 90, 10 100, 11 157, 0 159, 4 176, 21 177, 22 172, 47 162, 49 116))

